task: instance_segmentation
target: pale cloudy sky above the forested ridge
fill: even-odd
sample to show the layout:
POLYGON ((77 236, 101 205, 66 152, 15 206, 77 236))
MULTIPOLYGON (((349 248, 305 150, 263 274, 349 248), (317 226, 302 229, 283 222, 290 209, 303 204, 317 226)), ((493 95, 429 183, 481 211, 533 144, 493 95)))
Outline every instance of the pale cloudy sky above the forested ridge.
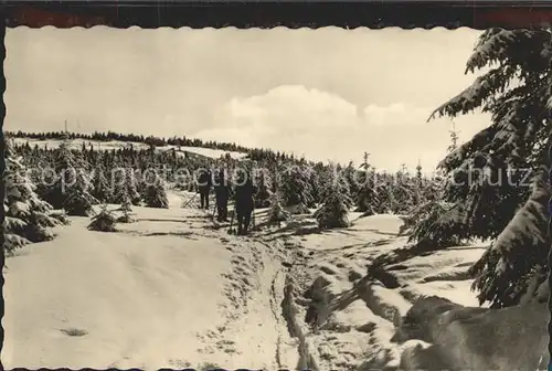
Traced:
MULTIPOLYGON (((235 141, 393 170, 434 168, 450 119, 434 108, 474 80, 480 31, 8 30, 8 130, 235 141)), ((455 119, 466 140, 489 124, 455 119)))

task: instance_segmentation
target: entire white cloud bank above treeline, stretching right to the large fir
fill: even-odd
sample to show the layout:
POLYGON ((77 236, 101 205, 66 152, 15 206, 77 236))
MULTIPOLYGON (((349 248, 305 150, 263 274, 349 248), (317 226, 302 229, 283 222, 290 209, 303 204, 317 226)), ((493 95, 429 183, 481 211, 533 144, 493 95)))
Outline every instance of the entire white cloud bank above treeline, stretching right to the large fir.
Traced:
MULTIPOLYGON (((359 162, 369 151, 375 166, 390 171, 401 163, 414 168, 418 159, 432 169, 445 155, 450 129, 447 119, 426 123, 432 109, 404 103, 358 109, 336 94, 278 86, 264 95, 231 99, 215 112, 215 126, 194 136, 341 162, 359 162)), ((461 138, 468 139, 487 117, 457 121, 461 138)))

